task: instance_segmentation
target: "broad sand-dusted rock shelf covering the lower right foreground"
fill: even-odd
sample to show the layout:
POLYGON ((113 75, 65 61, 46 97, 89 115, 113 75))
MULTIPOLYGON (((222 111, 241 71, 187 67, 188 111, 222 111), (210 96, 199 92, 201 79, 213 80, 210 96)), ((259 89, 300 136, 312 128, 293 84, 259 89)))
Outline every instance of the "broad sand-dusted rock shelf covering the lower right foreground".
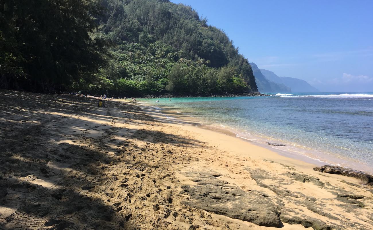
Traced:
MULTIPOLYGON (((276 175, 264 169, 243 167, 241 175, 250 180, 245 186, 225 179, 222 172, 186 167, 181 170, 188 178, 183 178, 185 184, 180 186, 180 193, 186 197, 183 203, 267 227, 282 227, 283 223, 288 223, 313 230, 372 229, 371 216, 366 215, 371 200, 366 193, 335 187, 291 166, 282 166, 289 171, 276 175), (323 194, 308 193, 310 184, 317 185, 314 189, 323 194), (303 189, 294 190, 294 187, 303 189), (353 218, 345 218, 338 210, 350 213, 353 218), (362 225, 364 221, 367 224, 362 225)), ((367 190, 364 185, 357 186, 367 190)))

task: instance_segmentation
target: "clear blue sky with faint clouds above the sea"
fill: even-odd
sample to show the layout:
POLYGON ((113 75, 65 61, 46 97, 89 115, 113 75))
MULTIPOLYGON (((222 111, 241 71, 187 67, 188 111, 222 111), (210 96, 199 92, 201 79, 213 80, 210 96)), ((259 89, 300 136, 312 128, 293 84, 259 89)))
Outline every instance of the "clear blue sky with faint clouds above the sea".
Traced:
POLYGON ((171 0, 224 30, 250 62, 323 92, 373 91, 372 0, 171 0))

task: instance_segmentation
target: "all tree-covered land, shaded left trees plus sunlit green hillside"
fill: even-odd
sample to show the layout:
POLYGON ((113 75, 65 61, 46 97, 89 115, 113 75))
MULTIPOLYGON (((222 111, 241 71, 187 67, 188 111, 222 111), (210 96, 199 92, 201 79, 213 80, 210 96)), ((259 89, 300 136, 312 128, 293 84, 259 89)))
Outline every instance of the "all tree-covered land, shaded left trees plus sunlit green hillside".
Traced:
POLYGON ((113 96, 256 92, 222 31, 168 0, 6 0, 0 87, 113 96))

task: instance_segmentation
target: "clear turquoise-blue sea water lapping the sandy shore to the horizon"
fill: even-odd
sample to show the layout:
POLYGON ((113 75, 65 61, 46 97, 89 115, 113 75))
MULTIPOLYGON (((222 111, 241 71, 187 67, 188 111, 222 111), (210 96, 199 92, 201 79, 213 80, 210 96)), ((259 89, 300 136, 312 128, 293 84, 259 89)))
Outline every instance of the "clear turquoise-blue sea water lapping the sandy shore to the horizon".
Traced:
POLYGON ((141 101, 169 119, 174 111, 258 144, 373 172, 373 92, 158 99, 141 101))

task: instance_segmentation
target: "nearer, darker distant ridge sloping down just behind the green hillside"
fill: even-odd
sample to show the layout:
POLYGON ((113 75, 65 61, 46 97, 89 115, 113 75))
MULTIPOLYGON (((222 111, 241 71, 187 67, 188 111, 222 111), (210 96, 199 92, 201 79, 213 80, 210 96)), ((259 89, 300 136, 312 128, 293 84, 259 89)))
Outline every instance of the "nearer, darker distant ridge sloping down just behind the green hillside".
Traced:
POLYGON ((255 81, 257 83, 259 92, 262 92, 262 93, 263 92, 266 92, 266 93, 273 93, 273 92, 290 93, 291 92, 291 88, 289 88, 288 86, 285 86, 282 83, 276 83, 274 81, 268 80, 261 73, 260 69, 258 68, 258 66, 255 63, 250 62, 250 65, 251 65, 251 68, 253 70, 253 74, 254 74, 255 81))

